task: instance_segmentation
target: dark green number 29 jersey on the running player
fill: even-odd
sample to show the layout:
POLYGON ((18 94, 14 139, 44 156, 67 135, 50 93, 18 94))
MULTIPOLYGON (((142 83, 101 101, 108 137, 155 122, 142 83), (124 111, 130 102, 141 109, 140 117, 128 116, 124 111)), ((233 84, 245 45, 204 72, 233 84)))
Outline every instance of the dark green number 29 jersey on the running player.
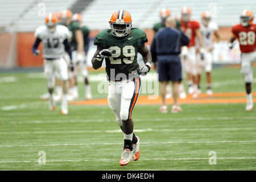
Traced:
POLYGON ((116 77, 118 73, 123 73, 128 78, 129 73, 137 70, 139 68, 138 49, 147 41, 146 33, 138 28, 131 28, 130 34, 121 38, 114 36, 111 30, 98 33, 94 39, 94 45, 112 52, 111 57, 105 58, 108 79, 113 80, 114 76, 114 79, 118 80, 116 77))

